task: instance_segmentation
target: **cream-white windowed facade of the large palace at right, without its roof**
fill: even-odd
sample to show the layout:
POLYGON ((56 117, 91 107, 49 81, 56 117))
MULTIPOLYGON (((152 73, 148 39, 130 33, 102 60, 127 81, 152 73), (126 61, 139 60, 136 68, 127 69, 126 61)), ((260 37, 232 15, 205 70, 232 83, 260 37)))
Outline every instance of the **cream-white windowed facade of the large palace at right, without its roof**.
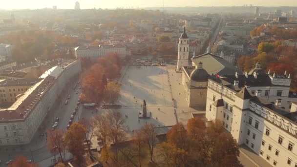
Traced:
POLYGON ((237 96, 234 96, 234 100, 232 100, 224 96, 222 90, 224 91, 224 87, 222 88, 219 84, 216 86, 216 83, 209 80, 207 120, 223 121, 225 129, 233 135, 239 145, 249 146, 272 166, 276 162, 278 167, 294 167, 297 164, 297 125, 269 108, 254 104, 250 100, 242 100, 237 96), (215 100, 223 99, 224 107, 212 106, 210 111, 209 105, 214 103, 213 96, 216 97, 215 100), (228 103, 228 108, 226 108, 226 103, 228 103), (233 107, 232 112, 230 106, 233 107), (252 119, 251 124, 249 124, 250 118, 252 119), (266 129, 270 130, 268 135, 266 135, 266 129), (282 144, 278 143, 279 137, 283 138, 282 144), (288 149, 289 143, 293 145, 292 151, 288 149), (276 151, 278 151, 278 155, 276 155, 276 151), (269 156, 269 160, 267 160, 267 156, 269 156), (291 165, 288 165, 288 159, 290 159, 291 165))

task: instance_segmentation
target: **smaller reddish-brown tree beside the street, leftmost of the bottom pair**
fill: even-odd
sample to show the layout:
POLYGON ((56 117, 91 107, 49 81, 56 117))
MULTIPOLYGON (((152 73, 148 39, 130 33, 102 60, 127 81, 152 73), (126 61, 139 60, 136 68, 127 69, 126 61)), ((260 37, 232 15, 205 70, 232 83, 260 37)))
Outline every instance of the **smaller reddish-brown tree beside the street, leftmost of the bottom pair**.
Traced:
POLYGON ((63 143, 64 133, 61 130, 47 130, 47 143, 46 147, 51 153, 59 153, 61 161, 64 163, 64 143, 63 143), (63 155, 62 155, 63 153, 63 155))

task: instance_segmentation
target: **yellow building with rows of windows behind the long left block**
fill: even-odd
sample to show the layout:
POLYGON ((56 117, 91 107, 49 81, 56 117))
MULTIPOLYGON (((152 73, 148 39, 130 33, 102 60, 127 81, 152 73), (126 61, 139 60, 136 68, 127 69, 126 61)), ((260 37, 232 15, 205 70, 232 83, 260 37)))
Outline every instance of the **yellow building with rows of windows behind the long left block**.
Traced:
POLYGON ((20 97, 18 95, 24 93, 41 80, 39 78, 0 80, 0 103, 15 102, 20 97))

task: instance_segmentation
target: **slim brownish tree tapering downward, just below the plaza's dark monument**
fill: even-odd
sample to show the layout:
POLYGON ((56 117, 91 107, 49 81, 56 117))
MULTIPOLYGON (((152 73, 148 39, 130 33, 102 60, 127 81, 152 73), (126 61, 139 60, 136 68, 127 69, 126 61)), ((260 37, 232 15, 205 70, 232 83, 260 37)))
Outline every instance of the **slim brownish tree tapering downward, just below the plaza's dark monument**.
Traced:
POLYGON ((141 127, 141 130, 143 131, 143 134, 144 134, 145 143, 147 144, 149 149, 150 161, 152 161, 154 148, 156 147, 156 144, 158 141, 155 128, 156 128, 156 125, 153 125, 153 124, 145 124, 141 127))

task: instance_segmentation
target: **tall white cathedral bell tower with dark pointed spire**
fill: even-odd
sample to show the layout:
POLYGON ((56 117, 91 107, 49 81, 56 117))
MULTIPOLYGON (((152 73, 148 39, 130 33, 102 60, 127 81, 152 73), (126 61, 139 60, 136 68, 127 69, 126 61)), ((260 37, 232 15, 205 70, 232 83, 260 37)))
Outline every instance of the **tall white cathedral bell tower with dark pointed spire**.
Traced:
POLYGON ((189 38, 186 34, 186 27, 178 42, 176 71, 181 71, 182 66, 189 66, 189 38))

